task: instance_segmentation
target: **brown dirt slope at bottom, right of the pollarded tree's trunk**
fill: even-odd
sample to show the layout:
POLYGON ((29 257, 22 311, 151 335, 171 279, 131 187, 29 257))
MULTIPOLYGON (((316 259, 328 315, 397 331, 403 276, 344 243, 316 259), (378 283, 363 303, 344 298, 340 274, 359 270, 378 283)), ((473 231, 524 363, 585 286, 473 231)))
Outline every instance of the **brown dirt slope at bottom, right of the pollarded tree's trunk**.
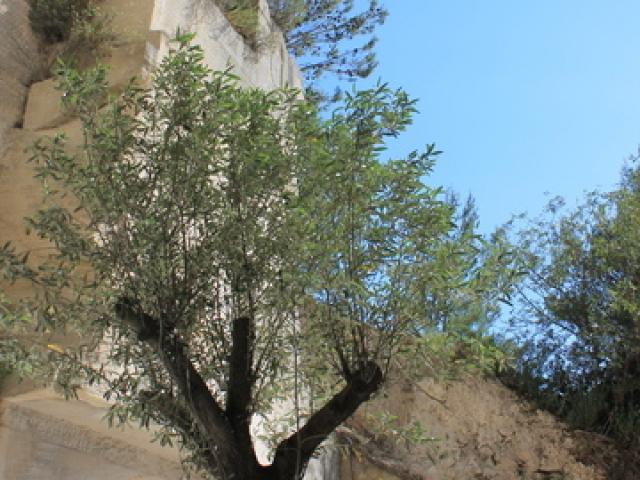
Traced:
POLYGON ((612 478, 603 467, 614 454, 606 440, 572 432, 498 381, 480 376, 392 385, 358 412, 341 441, 352 446, 342 464, 343 480, 612 478), (371 415, 381 411, 397 416, 400 429, 419 421, 435 440, 407 448, 397 437, 376 435, 371 415), (581 461, 595 451, 598 461, 581 461))

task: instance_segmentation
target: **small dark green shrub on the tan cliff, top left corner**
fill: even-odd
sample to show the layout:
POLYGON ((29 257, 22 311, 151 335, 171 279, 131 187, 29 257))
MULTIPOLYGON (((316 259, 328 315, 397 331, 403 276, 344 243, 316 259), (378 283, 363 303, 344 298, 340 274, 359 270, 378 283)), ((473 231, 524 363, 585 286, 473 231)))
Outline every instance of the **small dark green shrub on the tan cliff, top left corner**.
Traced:
POLYGON ((77 16, 90 0, 27 0, 31 29, 47 43, 69 38, 77 16))

